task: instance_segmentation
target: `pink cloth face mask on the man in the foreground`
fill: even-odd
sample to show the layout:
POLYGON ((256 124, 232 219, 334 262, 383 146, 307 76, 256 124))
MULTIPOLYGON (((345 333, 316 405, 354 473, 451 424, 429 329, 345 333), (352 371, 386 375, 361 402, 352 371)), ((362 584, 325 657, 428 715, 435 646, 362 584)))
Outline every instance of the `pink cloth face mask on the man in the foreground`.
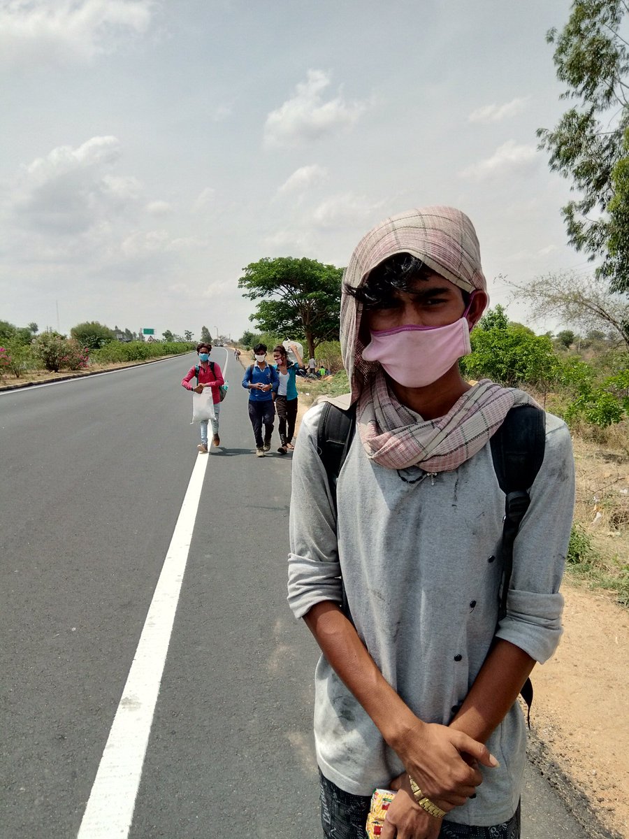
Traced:
POLYGON ((470 324, 465 319, 469 308, 448 326, 372 331, 362 357, 366 362, 380 362, 393 381, 405 388, 425 388, 470 354, 470 324))

